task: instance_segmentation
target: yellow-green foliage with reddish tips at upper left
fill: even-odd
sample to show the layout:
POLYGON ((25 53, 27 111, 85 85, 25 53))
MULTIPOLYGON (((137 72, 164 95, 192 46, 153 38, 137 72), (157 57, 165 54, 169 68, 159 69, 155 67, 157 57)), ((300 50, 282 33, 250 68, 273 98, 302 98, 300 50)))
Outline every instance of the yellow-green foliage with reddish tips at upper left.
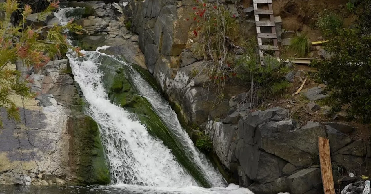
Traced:
MULTIPOLYGON (((58 1, 51 2, 45 11, 39 14, 42 19, 52 14, 58 8, 58 1)), ((72 48, 63 35, 65 30, 81 33, 82 27, 69 22, 66 26, 38 27, 26 26, 26 18, 32 13, 32 8, 25 5, 22 10, 16 0, 7 0, 0 3, 0 12, 5 17, 0 21, 0 108, 6 109, 8 119, 19 120, 20 115, 16 104, 12 101, 12 95, 17 94, 24 99, 32 98, 37 93, 31 92, 28 83, 33 80, 22 78, 19 71, 9 68, 10 63, 22 61, 26 67, 40 68, 56 55, 67 48, 72 48), (15 11, 22 12, 22 18, 16 26, 9 26, 11 15, 15 11), (40 38, 47 31, 44 39, 40 38)), ((73 48, 77 55, 81 55, 78 48, 73 48)), ((0 125, 2 124, 0 118, 0 125)), ((2 126, 2 125, 1 125, 2 126)))

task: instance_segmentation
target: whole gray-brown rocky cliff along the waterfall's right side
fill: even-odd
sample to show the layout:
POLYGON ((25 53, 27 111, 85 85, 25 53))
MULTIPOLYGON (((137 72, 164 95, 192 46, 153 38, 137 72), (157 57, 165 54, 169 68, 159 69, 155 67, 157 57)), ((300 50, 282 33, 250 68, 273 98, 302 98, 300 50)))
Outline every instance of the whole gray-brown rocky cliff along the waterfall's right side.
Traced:
MULTIPOLYGON (((194 23, 187 18, 194 6, 194 0, 121 0, 118 4, 85 5, 93 12, 78 21, 91 30, 91 35, 82 38, 82 45, 95 50, 107 44, 112 47, 103 52, 121 54, 128 62, 148 68, 180 118, 188 125, 205 126, 213 141, 213 152, 224 168, 240 185, 257 194, 321 193, 318 136, 330 140, 333 166, 337 167, 335 179, 346 172, 361 174, 369 170, 370 144, 350 136, 353 127, 348 124, 309 121, 301 126, 283 108, 253 111, 253 106, 243 100, 244 86, 229 86, 226 92, 230 96, 213 107, 216 96, 212 90, 203 88, 207 78, 193 73, 203 60, 190 50, 193 42, 190 29, 194 23), (125 27, 138 35, 113 17, 117 15, 115 10, 124 13, 125 27), (106 23, 101 26, 103 21, 106 23)), ((237 13, 241 6, 226 1, 232 12, 237 13)), ((242 10, 247 16, 251 13, 249 6, 242 10)), ((282 31, 279 16, 276 21, 277 30, 282 31)), ((246 29, 251 30, 253 24, 253 21, 248 23, 246 29)), ((286 79, 299 79, 300 74, 292 71, 286 79)), ((321 86, 309 88, 305 95, 316 101, 325 97, 320 90, 321 86)), ((314 104, 309 110, 316 111, 317 106, 314 104)))

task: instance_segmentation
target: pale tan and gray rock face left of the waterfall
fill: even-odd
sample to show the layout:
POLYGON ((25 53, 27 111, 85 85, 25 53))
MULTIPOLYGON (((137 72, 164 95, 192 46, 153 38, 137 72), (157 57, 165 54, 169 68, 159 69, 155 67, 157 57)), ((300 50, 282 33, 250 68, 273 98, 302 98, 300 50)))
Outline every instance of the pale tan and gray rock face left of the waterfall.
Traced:
MULTIPOLYGON (((73 78, 64 72, 68 60, 51 61, 43 68, 27 69, 21 63, 9 65, 8 68, 18 69, 24 75, 29 75, 33 82, 29 83, 32 92, 38 92, 35 99, 25 100, 14 95, 13 101, 19 107, 20 122, 8 120, 7 113, 1 109, 4 123, 0 130, 0 184, 51 185, 68 183, 108 184, 109 172, 105 164, 99 131, 86 133, 98 137, 95 142, 98 147, 90 149, 91 143, 84 142, 81 134, 89 131, 89 123, 81 123, 84 127, 69 125, 74 118, 91 119, 83 115, 78 103, 81 96, 74 84, 73 78), (99 147, 100 145, 100 147, 99 147), (74 156, 79 146, 81 152, 96 151, 96 155, 74 156), (78 160, 75 163, 73 161, 78 160), (98 166, 84 169, 81 161, 99 160, 98 166), (102 171, 99 176, 94 174, 102 171), (89 175, 84 177, 82 175, 89 175)), ((76 122, 73 122, 76 124, 76 122)), ((90 123, 96 125, 91 119, 90 123)), ((98 127, 96 127, 98 129, 98 127)))

